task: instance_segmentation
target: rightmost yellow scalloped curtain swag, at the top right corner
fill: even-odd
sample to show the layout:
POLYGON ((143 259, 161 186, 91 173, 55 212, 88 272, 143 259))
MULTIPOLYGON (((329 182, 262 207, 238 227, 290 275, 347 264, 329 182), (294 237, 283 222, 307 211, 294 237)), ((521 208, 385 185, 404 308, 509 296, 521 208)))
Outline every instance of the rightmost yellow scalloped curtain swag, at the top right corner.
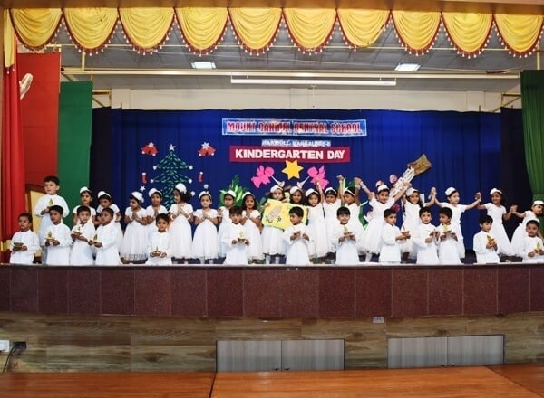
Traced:
POLYGON ((513 52, 532 52, 539 43, 542 15, 495 14, 495 24, 500 37, 513 52))

